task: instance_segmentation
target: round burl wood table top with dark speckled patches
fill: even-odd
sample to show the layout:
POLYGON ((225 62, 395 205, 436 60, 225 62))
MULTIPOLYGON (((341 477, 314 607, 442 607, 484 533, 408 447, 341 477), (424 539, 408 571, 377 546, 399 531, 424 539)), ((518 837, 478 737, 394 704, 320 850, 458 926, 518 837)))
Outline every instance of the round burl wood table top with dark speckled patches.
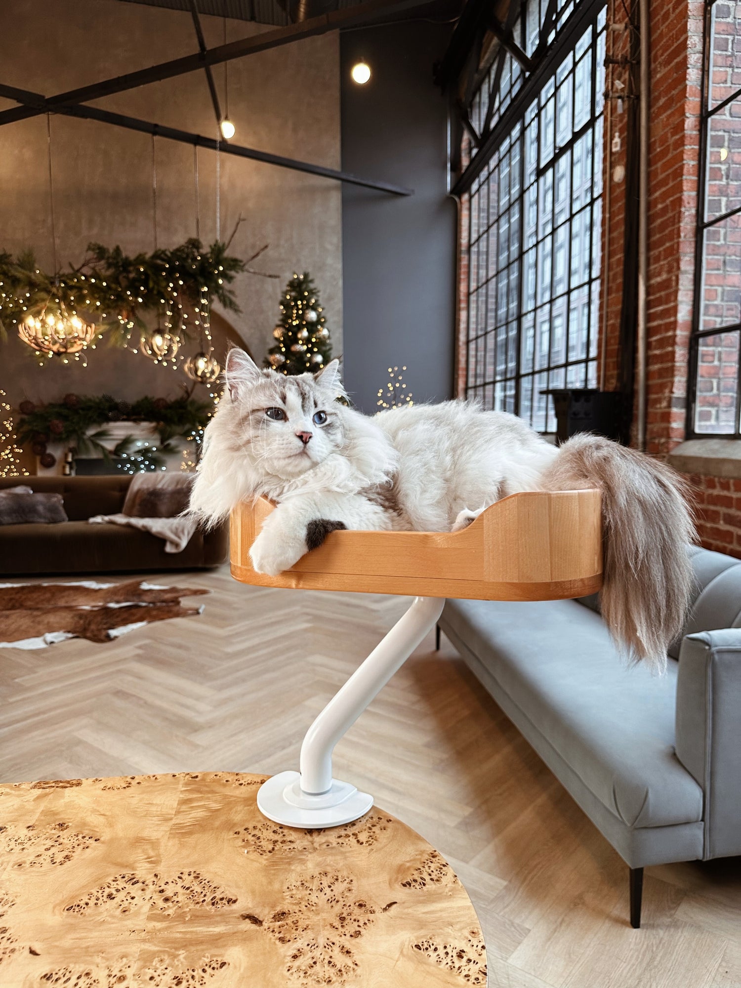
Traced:
POLYGON ((74 988, 485 985, 473 907, 373 807, 296 830, 265 776, 0 785, 0 983, 74 988))

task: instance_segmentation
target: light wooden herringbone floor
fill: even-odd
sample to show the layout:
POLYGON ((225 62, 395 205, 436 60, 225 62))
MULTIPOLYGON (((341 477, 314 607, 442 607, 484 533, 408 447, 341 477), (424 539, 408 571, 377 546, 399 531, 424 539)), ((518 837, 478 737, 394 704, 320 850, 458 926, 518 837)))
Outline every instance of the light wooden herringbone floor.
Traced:
MULTIPOLYGON (((147 579, 207 587, 205 613, 110 645, 0 652, 1 781, 295 768, 312 717, 407 603, 251 588, 226 568, 147 579)), ((453 864, 489 984, 739 988, 739 861, 648 868, 631 930, 626 866, 450 644, 433 647, 340 743, 336 775, 453 864)))

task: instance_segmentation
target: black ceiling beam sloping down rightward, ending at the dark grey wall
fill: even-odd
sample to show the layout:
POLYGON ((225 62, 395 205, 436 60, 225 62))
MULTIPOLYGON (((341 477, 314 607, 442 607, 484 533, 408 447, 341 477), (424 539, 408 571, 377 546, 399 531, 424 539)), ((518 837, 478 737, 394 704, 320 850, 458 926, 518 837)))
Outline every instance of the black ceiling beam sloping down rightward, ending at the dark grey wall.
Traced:
MULTIPOLYGON (((39 93, 31 93, 24 89, 15 89, 12 86, 4 86, 2 84, 0 84, 0 96, 4 96, 10 100, 16 100, 19 103, 25 103, 26 101, 39 103, 43 100, 43 97, 39 93)), ((374 182, 372 179, 360 178, 358 175, 352 175, 350 172, 338 171, 335 168, 325 168, 323 165, 313 165, 308 161, 297 161, 294 158, 285 158, 280 154, 270 154, 267 151, 258 151, 253 147, 242 147, 239 144, 226 144, 222 140, 204 137, 200 133, 190 133, 188 130, 178 130, 176 127, 163 126, 162 124, 150 124, 148 121, 138 120, 136 117, 113 114, 108 110, 99 110, 97 107, 64 106, 58 107, 56 112, 65 117, 77 117, 81 120, 113 124, 114 126, 124 127, 127 130, 137 130, 139 133, 150 133, 155 137, 164 137, 166 140, 176 140, 181 144, 206 147, 208 150, 220 151, 222 154, 234 154, 239 158, 250 158, 252 161, 262 161, 266 165, 289 168, 294 172, 319 175, 321 178, 333 179, 336 182, 346 182, 349 185, 363 186, 365 189, 391 193, 393 196, 414 195, 413 189, 392 185, 389 182, 374 182)))

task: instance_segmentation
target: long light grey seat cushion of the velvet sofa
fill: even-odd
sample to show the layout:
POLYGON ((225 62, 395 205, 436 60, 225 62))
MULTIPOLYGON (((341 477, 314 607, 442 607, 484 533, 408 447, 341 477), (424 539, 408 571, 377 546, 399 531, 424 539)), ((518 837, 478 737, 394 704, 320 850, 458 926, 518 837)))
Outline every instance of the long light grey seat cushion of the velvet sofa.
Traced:
POLYGON ((628 667, 599 615, 576 601, 449 601, 465 642, 595 796, 630 827, 702 818, 702 790, 674 752, 677 667, 628 667))

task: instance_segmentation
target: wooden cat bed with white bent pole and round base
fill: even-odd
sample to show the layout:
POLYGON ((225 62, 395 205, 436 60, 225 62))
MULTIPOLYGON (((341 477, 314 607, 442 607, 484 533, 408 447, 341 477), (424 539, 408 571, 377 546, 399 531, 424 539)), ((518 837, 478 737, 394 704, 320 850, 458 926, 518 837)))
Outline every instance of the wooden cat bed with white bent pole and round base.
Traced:
POLYGON ((231 573, 260 587, 401 594, 416 600, 309 727, 300 772, 282 772, 257 795, 262 813, 288 827, 357 820, 372 796, 332 778, 332 752, 371 700, 435 627, 447 597, 549 601, 602 586, 601 495, 528 491, 491 505, 461 532, 333 532, 278 576, 256 573, 249 549, 274 506, 231 516, 231 573))

